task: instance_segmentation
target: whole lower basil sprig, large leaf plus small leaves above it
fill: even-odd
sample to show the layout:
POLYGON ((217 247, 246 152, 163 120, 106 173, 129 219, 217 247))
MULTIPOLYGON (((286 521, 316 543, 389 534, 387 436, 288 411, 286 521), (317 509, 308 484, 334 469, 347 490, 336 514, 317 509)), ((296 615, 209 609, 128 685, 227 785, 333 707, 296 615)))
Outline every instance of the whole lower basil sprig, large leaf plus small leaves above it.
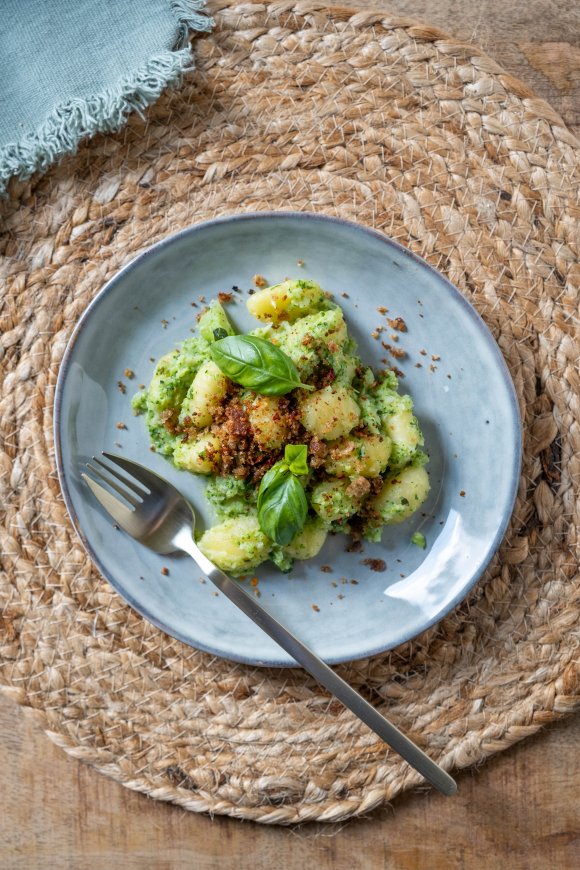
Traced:
POLYGON ((298 475, 308 474, 305 444, 288 444, 284 459, 266 472, 258 490, 260 528, 281 547, 302 531, 308 515, 308 501, 298 475))

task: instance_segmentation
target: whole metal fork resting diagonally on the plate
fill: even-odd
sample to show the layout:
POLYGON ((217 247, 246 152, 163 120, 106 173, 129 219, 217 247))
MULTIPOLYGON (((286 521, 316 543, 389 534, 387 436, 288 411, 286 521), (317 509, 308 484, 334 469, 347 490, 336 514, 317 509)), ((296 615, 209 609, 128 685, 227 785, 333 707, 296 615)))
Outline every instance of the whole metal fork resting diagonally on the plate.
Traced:
POLYGON ((157 553, 174 553, 178 550, 188 553, 220 592, 259 625, 325 689, 342 701, 345 707, 395 749, 435 788, 445 795, 455 794, 457 784, 448 773, 264 610, 240 583, 236 583, 204 556, 193 539, 195 511, 179 490, 144 465, 112 453, 103 453, 103 456, 113 463, 113 467, 93 457, 87 463, 87 469, 109 489, 87 474, 82 477, 119 526, 157 553), (113 495, 110 489, 118 493, 122 500, 113 495))

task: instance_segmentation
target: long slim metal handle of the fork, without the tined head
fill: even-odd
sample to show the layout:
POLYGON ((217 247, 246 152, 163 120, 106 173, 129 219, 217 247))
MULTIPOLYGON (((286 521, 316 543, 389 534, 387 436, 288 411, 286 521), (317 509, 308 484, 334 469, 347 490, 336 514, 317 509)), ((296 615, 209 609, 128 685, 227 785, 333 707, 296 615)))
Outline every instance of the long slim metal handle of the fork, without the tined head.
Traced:
MULTIPOLYGON (((185 542, 180 542, 185 543, 185 542)), ((209 561, 193 541, 188 541, 183 549, 197 562, 204 574, 214 583, 220 592, 230 599, 246 616, 249 616, 272 640, 286 650, 292 658, 302 665, 315 680, 328 689, 355 716, 368 725, 378 736, 388 743, 396 752, 414 767, 431 785, 442 794, 452 795, 457 791, 457 783, 438 764, 435 764, 422 749, 406 737, 378 710, 365 701, 342 677, 322 661, 309 647, 292 634, 282 623, 278 622, 267 610, 258 604, 239 583, 236 583, 223 571, 209 561)))

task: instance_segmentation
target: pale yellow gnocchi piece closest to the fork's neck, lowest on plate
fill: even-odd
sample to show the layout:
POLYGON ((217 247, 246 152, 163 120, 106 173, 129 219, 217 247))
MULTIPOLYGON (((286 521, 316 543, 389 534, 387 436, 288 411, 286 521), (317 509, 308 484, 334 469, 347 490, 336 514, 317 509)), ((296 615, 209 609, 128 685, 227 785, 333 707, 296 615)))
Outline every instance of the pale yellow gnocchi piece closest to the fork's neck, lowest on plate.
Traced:
POLYGON ((207 529, 197 543, 214 565, 232 574, 256 568, 268 558, 272 547, 256 516, 224 520, 207 529))

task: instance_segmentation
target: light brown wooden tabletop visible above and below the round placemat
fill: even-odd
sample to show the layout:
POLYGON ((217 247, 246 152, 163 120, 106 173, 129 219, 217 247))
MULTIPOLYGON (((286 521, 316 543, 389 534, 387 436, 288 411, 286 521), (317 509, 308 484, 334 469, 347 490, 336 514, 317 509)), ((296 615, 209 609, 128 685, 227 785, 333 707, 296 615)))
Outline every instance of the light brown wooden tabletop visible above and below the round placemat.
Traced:
MULTIPOLYGON (((481 45, 580 135, 580 6, 563 0, 358 0, 481 45)), ((0 867, 100 870, 571 870, 580 866, 580 718, 364 820, 299 830, 198 816, 124 789, 57 749, 0 695, 0 867)))

